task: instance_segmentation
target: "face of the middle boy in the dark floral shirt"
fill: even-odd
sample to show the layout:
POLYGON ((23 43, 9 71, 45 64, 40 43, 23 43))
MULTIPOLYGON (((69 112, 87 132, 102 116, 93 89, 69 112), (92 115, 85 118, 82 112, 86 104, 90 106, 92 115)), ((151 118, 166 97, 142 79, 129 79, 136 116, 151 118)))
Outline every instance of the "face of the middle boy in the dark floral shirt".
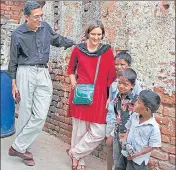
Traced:
POLYGON ((119 77, 117 88, 120 94, 128 94, 131 89, 133 89, 133 87, 134 84, 131 84, 131 82, 126 77, 119 77))

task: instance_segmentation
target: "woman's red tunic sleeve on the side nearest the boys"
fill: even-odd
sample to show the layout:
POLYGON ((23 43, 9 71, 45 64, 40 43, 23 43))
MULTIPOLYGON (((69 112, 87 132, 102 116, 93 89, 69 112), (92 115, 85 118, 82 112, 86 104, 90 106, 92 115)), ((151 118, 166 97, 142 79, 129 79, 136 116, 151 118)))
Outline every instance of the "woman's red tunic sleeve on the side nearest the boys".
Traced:
POLYGON ((109 50, 109 58, 110 58, 110 62, 109 62, 110 67, 109 67, 109 74, 108 74, 108 87, 110 87, 112 82, 117 78, 112 50, 109 50))

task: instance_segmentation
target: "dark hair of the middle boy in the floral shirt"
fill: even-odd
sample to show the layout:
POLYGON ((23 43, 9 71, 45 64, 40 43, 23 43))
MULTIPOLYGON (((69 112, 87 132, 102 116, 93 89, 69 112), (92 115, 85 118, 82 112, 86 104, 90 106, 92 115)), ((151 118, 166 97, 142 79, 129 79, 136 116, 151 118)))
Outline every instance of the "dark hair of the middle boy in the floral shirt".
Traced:
POLYGON ((122 76, 128 79, 131 84, 135 84, 137 79, 137 74, 132 68, 127 68, 119 72, 118 76, 122 76))

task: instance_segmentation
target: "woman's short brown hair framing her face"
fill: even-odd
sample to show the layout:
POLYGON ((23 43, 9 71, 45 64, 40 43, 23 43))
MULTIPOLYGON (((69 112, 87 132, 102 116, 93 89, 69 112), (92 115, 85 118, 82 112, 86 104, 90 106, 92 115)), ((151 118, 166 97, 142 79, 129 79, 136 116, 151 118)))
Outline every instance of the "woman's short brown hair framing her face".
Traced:
POLYGON ((98 27, 100 27, 101 30, 102 30, 102 39, 103 39, 104 36, 105 36, 105 29, 104 29, 104 25, 103 25, 102 22, 99 21, 99 20, 93 21, 93 22, 91 22, 91 23, 88 25, 88 27, 87 27, 87 29, 86 29, 86 31, 85 31, 85 37, 88 39, 88 38, 89 38, 89 33, 90 33, 93 29, 98 28, 98 27))

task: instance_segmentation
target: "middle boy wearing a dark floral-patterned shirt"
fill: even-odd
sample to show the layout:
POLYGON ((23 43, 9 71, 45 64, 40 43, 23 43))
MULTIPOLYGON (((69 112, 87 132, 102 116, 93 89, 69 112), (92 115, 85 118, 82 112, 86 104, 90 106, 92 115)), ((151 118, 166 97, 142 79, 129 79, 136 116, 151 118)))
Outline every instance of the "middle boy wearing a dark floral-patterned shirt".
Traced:
POLYGON ((114 128, 113 137, 113 158, 115 170, 119 157, 121 155, 121 140, 125 136, 127 129, 125 124, 130 117, 130 113, 133 109, 133 104, 137 99, 137 95, 132 92, 135 86, 137 74, 131 69, 125 69, 119 73, 118 80, 118 93, 114 100, 110 103, 111 108, 115 112, 116 123, 114 128))

